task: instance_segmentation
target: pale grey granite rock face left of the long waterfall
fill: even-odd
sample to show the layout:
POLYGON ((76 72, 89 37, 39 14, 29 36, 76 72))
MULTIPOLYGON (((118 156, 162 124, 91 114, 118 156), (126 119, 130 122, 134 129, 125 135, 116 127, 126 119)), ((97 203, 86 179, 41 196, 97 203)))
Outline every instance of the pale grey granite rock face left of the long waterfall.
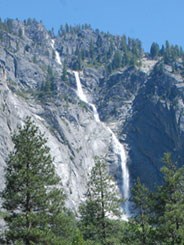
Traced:
POLYGON ((110 133, 97 125, 92 109, 77 97, 73 72, 68 70, 67 80, 61 79, 63 66, 56 60, 57 51, 44 27, 34 22, 28 27, 17 21, 12 25, 24 31, 21 38, 3 32, 3 38, 6 34, 12 43, 0 48, 1 189, 5 160, 13 147, 11 134, 31 116, 48 138, 67 205, 75 210, 86 190, 94 157, 104 156, 110 148, 110 133))

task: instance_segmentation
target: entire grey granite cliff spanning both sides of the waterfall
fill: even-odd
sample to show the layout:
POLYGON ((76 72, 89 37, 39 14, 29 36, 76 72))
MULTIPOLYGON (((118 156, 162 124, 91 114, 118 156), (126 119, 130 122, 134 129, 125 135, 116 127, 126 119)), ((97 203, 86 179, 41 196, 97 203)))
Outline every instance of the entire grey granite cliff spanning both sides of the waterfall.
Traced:
POLYGON ((106 157, 118 185, 122 184, 111 134, 94 120, 92 108, 77 96, 73 70, 79 65, 88 101, 96 105, 101 121, 126 147, 131 183, 138 176, 150 188, 153 183, 161 183, 159 169, 164 152, 172 152, 182 164, 182 62, 173 71, 160 60, 142 56, 142 66, 125 65, 112 71, 108 67, 107 71, 102 65, 103 54, 110 52, 112 40, 114 49, 125 53, 118 47, 119 37, 88 27, 55 37, 34 20, 11 21, 9 25, 0 28, 1 188, 5 160, 13 147, 11 134, 27 115, 48 138, 68 206, 76 209, 83 199, 96 155, 106 157), (86 57, 82 65, 79 50, 86 57), (95 58, 94 50, 98 50, 95 58))

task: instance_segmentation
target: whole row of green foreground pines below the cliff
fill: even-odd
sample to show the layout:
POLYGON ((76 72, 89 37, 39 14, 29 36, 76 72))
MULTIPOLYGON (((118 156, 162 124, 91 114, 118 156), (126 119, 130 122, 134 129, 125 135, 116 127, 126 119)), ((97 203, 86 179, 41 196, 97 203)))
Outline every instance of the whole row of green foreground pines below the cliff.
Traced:
POLYGON ((66 195, 44 135, 27 117, 12 137, 5 171, 0 244, 120 245, 184 244, 184 167, 164 155, 163 184, 132 188, 133 215, 122 220, 123 200, 104 159, 95 158, 78 216, 66 195))

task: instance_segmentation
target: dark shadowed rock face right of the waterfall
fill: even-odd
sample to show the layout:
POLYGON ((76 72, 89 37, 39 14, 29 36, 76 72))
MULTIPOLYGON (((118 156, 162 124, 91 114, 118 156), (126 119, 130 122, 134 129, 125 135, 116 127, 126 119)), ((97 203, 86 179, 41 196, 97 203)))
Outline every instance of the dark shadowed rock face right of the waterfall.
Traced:
POLYGON ((162 181, 164 152, 171 152, 180 165, 183 158, 183 78, 166 68, 154 69, 147 78, 125 126, 131 175, 140 176, 150 188, 162 181))

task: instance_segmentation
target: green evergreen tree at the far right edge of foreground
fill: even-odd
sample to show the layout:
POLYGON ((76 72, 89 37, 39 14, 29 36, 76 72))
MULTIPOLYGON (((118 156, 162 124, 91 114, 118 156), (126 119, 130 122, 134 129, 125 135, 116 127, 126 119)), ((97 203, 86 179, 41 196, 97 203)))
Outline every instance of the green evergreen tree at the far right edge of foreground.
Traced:
POLYGON ((164 184, 156 196, 157 237, 162 244, 184 244, 184 167, 177 168, 164 155, 164 184))

